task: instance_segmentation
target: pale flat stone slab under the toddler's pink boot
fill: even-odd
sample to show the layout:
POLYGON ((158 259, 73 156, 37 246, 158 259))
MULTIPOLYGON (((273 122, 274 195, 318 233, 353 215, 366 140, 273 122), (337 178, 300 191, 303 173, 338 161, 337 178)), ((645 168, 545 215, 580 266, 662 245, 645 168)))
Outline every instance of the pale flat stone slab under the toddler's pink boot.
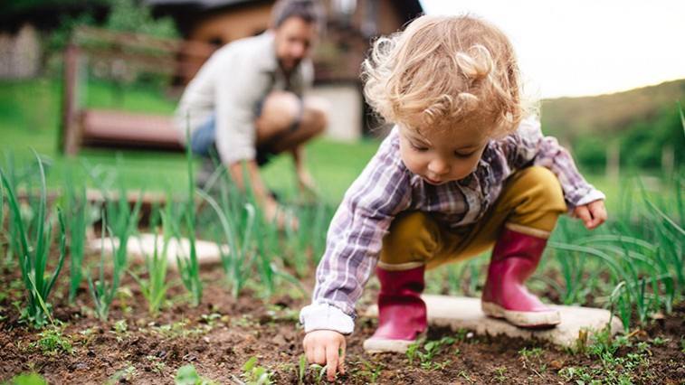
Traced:
MULTIPOLYGON (((484 315, 480 310, 480 298, 433 295, 422 297, 428 309, 428 324, 448 326, 454 331, 460 328, 468 329, 480 335, 507 335, 514 338, 545 341, 562 347, 573 347, 583 334, 587 338, 604 329, 611 318, 609 311, 604 309, 552 305, 559 310, 561 324, 551 329, 528 330, 484 315)), ((377 306, 369 306, 362 315, 376 317, 377 306)), ((612 334, 623 332, 623 324, 615 316, 611 319, 611 332, 612 334)))

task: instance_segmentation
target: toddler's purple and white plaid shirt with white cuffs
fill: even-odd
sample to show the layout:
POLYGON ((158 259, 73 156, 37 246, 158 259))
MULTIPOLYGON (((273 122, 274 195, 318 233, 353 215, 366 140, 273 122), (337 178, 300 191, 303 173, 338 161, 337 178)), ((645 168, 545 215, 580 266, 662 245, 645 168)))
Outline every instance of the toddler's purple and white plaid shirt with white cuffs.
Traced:
POLYGON ((376 267, 383 237, 401 211, 425 211, 454 230, 468 231, 497 200, 509 175, 542 165, 557 175, 569 209, 604 199, 576 169, 557 139, 537 120, 524 120, 509 136, 490 141, 476 170, 460 181, 432 185, 410 172, 399 155, 395 127, 352 183, 328 228, 312 304, 302 309, 305 331, 352 333, 355 303, 376 267))

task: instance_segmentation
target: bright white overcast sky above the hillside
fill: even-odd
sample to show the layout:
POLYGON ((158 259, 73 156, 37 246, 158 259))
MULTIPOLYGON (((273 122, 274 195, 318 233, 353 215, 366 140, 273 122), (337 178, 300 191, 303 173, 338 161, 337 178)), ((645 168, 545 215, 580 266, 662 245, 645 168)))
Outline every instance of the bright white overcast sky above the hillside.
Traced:
POLYGON ((426 14, 475 14, 507 33, 528 94, 613 93, 685 78, 682 0, 421 0, 426 14))

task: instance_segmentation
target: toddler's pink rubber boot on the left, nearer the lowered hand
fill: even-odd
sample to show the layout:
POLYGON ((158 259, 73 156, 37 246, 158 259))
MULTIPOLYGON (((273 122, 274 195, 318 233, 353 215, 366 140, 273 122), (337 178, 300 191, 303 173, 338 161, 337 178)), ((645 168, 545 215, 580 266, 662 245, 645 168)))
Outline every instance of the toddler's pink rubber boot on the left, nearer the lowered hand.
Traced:
POLYGON ((406 352, 427 327, 423 292, 423 266, 391 271, 376 268, 381 282, 378 294, 378 328, 364 342, 366 352, 406 352))

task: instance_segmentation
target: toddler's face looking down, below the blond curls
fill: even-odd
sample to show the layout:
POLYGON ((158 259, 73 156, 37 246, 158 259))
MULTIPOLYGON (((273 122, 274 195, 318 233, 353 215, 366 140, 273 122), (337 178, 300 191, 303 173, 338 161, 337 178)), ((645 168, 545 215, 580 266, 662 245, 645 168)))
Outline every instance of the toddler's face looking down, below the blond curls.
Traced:
POLYGON ((473 127, 421 131, 400 127, 400 156, 404 165, 435 185, 465 178, 475 170, 489 139, 473 127))

